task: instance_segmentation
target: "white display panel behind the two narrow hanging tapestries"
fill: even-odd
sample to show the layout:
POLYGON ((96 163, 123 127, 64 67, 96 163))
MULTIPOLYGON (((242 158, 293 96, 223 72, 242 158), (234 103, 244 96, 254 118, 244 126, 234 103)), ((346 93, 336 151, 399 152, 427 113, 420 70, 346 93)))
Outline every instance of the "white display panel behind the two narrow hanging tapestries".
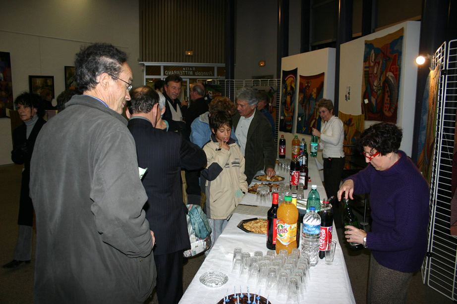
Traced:
MULTIPOLYGON (((298 81, 299 75, 310 76, 317 75, 322 72, 324 75, 324 98, 334 99, 335 96, 335 56, 336 50, 333 48, 327 48, 317 51, 310 51, 306 53, 296 54, 282 59, 282 70, 292 70, 298 68, 297 70, 297 88, 295 90, 295 109, 298 108, 298 81)), ((282 92, 281 92, 282 93, 282 92)), ((297 111, 293 114, 293 121, 297 120, 297 111)), ((276 126, 279 130, 279 126, 276 126)), ((292 130, 296 130, 295 123, 293 124, 292 130)), ((286 133, 278 132, 278 138, 281 138, 281 135, 284 135, 286 139, 286 157, 290 158, 292 153, 292 139, 295 135, 298 135, 298 138, 304 138, 306 143, 309 146, 311 141, 310 135, 296 134, 296 133, 286 133)), ((279 148, 279 140, 278 140, 279 148)), ((309 150, 309 147, 308 147, 309 150)), ((309 152, 309 151, 308 151, 309 152)), ((322 157, 322 156, 321 156, 322 157)))

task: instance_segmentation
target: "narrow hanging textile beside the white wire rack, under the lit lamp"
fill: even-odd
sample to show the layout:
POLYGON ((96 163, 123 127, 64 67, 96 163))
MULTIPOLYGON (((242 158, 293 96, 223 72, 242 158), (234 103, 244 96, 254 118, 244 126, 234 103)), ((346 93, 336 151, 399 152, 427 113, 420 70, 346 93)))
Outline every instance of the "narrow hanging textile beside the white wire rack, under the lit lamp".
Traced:
POLYGON ((435 150, 436 111, 438 101, 438 86, 440 82, 441 65, 430 71, 425 83, 424 96, 420 117, 417 167, 430 184, 432 158, 435 150))

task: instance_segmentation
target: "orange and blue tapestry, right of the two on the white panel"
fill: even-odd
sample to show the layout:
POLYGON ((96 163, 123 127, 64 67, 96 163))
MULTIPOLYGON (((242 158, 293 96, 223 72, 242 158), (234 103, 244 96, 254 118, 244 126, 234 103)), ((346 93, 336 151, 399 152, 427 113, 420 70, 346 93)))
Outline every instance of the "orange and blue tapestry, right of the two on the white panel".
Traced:
POLYGON ((324 97, 324 73, 300 75, 298 86, 297 133, 311 135, 311 128, 320 131, 321 117, 316 103, 324 97))

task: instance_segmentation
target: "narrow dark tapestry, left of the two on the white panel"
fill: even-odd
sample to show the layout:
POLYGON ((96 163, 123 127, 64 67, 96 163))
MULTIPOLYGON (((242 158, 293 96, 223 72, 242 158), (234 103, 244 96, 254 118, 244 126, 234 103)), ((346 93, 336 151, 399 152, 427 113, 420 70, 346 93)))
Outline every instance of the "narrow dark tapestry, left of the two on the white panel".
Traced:
POLYGON ((297 70, 298 68, 283 71, 283 78, 281 79, 279 130, 282 132, 292 133, 297 70))

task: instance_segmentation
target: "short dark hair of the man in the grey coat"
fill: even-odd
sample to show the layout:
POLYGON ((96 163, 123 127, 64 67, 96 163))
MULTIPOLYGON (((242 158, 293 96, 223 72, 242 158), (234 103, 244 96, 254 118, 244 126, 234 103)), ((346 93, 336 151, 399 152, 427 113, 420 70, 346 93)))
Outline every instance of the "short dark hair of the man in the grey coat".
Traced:
MULTIPOLYGON (((75 80, 79 91, 94 89, 97 76, 102 73, 119 76, 122 64, 127 61, 127 54, 108 43, 96 43, 76 54, 75 80)), ((112 76, 113 77, 113 76, 112 76)))

